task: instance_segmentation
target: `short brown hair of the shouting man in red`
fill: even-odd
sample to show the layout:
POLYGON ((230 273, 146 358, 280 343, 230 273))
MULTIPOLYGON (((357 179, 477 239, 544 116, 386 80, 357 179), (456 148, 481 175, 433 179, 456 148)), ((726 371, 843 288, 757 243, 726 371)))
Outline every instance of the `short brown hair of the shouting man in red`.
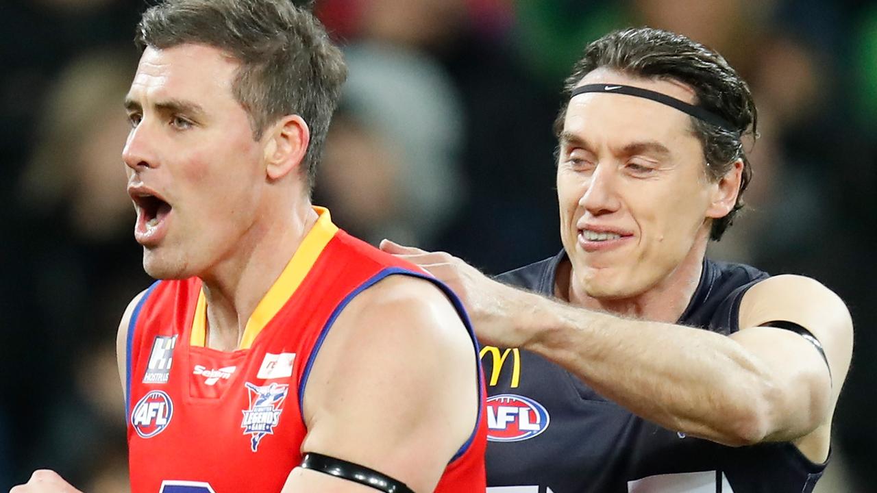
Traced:
POLYGON ((231 54, 240 62, 232 91, 254 139, 286 115, 310 126, 303 168, 313 186, 347 68, 310 11, 290 0, 165 0, 144 12, 135 42, 141 50, 193 43, 231 54))

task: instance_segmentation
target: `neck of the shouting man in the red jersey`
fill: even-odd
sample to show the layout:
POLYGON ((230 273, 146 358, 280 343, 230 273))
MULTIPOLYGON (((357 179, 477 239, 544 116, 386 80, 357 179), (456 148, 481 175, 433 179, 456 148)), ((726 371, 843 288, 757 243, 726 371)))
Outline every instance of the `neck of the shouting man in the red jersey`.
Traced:
POLYGON ((317 222, 310 202, 253 225, 231 254, 202 275, 207 301, 207 347, 239 347, 246 323, 317 222))

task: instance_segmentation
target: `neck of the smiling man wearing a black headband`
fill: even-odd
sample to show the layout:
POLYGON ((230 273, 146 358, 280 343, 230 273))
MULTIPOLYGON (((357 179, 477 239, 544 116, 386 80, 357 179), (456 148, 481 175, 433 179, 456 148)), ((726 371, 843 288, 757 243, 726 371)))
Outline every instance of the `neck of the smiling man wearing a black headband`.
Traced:
POLYGON ((572 289, 575 275, 571 263, 567 260, 564 261, 567 272, 563 273, 559 268, 557 291, 563 293, 570 303, 591 310, 609 311, 624 317, 673 324, 679 320, 691 302, 691 297, 695 295, 701 280, 705 254, 706 242, 695 242, 695 247, 688 252, 679 266, 652 288, 634 297, 614 299, 588 295, 575 296, 572 289))

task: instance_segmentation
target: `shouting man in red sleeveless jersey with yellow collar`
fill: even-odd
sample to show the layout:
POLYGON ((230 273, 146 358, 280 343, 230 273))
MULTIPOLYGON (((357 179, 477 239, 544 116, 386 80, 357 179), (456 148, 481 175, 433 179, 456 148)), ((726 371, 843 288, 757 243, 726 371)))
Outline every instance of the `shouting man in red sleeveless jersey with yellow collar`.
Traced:
POLYGON ((483 492, 456 297, 310 204, 346 76, 323 27, 286 0, 170 0, 137 41, 124 161, 162 281, 119 325, 132 491, 483 492))

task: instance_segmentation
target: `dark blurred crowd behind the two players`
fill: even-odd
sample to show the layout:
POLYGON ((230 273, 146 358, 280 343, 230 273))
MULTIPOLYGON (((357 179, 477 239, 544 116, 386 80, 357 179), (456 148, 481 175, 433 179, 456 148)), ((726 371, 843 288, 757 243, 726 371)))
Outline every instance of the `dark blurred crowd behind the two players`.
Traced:
MULTIPOLYGON (((0 490, 54 468, 127 489, 118 318, 146 288, 120 158, 143 0, 0 6, 0 490)), ((363 239, 498 273, 560 249, 552 123, 588 41, 652 25, 751 84, 748 211, 714 257, 812 275, 850 305, 852 371, 817 491, 877 483, 877 4, 317 0, 350 78, 315 202, 363 239)), ((218 198, 218 197, 217 197, 218 198)))

